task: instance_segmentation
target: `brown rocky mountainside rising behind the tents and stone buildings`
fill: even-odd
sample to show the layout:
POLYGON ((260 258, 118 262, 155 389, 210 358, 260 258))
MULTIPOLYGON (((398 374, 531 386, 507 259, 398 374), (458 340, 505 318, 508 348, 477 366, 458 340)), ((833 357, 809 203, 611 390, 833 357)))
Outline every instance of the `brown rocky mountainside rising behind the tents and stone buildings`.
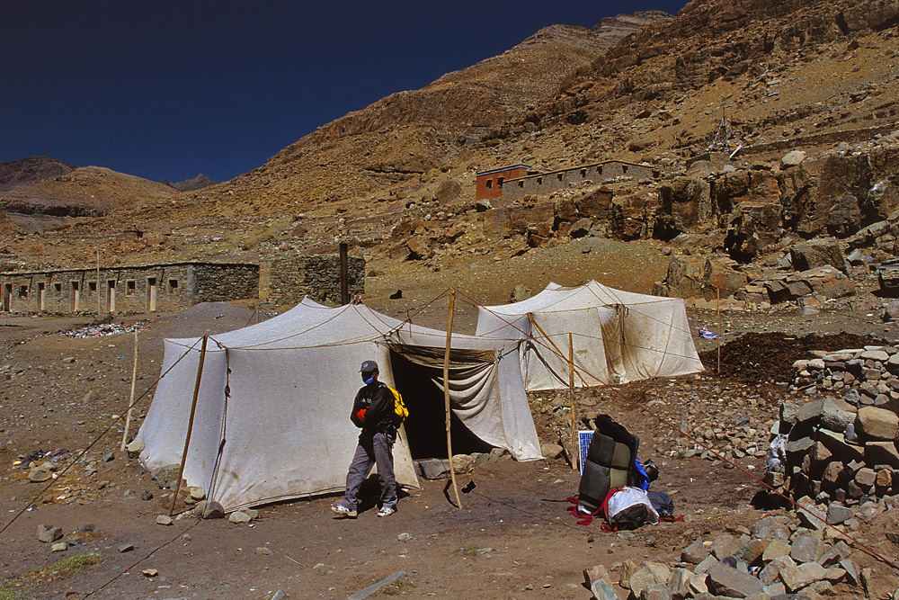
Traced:
POLYGON ((401 259, 421 274, 586 236, 777 263, 782 240, 846 239, 899 206, 889 135, 899 74, 885 60, 899 53, 897 14, 887 0, 695 0, 675 18, 548 27, 328 123, 230 182, 122 202, 45 232, 39 258, 11 258, 87 262, 79 253, 90 241, 122 260, 257 260, 348 241, 375 270, 401 259), (696 161, 723 112, 735 139, 727 154, 740 150, 730 161, 696 161), (782 165, 793 149, 805 156, 782 165), (476 210, 480 170, 610 158, 652 164, 662 177, 584 182, 476 210), (147 232, 139 242, 120 233, 135 228, 147 232))

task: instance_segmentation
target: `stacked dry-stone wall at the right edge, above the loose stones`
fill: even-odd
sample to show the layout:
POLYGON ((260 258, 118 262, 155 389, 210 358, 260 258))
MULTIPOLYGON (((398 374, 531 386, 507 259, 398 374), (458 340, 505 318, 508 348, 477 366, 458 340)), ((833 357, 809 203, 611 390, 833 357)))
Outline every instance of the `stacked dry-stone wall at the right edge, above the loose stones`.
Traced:
POLYGON ((899 493, 899 352, 866 346, 797 361, 797 389, 772 428, 766 483, 793 497, 854 504, 899 493))

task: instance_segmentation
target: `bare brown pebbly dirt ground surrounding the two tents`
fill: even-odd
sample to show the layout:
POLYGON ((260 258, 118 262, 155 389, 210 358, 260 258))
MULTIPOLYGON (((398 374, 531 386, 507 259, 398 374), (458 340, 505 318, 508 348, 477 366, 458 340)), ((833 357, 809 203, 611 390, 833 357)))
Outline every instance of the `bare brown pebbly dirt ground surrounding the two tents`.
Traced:
MULTIPOLYGON (((644 254, 635 263, 643 265, 636 272, 639 276, 616 279, 610 273, 620 264, 619 248, 585 253, 569 246, 555 254, 522 257, 512 265, 520 269, 516 276, 509 274, 509 265, 498 274, 484 260, 414 279, 401 265, 387 264, 369 278, 366 301, 405 318, 407 311, 439 298, 452 285, 459 287, 458 298, 465 291, 466 298, 478 302, 502 303, 518 282, 536 292, 550 280, 574 284, 595 278, 648 291, 647 285, 660 278, 663 269, 657 249, 649 247, 640 250, 644 254), (576 270, 571 268, 575 263, 576 270), (463 280, 467 287, 459 285, 463 280), (403 299, 388 300, 397 289, 404 290, 403 299)), ((0 587, 0 598, 271 598, 278 590, 289 598, 343 598, 400 570, 408 578, 380 594, 589 598, 582 585, 583 569, 600 564, 612 569, 626 559, 677 560, 681 549, 698 536, 708 540, 740 531, 767 514, 750 504, 761 488, 752 479, 761 474, 761 458, 737 461, 740 469, 699 457, 681 458, 675 445, 681 434, 672 426, 689 422, 698 408, 706 416, 721 411, 722 422, 735 415, 758 426, 770 423, 779 401, 788 397, 788 364, 797 352, 805 352, 789 342, 807 333, 840 332, 863 337, 833 341, 835 345, 871 336, 895 339, 895 326, 879 322, 877 302, 866 296, 852 307, 814 314, 797 309, 725 313, 725 342, 747 332, 762 336, 743 352, 725 346, 720 374, 717 341, 697 338, 698 349, 706 353, 707 372, 598 393, 595 407, 640 436, 642 457, 661 466, 654 487, 671 494, 676 514, 685 517, 633 533, 603 533, 598 522, 575 523, 566 498, 576 493, 578 475, 562 460, 480 465, 461 481, 476 484, 463 495, 462 508, 449 502, 446 481, 422 480, 423 487, 408 490, 396 515, 386 519, 376 518, 375 496, 369 494, 356 520, 335 520, 329 510, 334 497, 316 497, 263 506, 249 525, 192 517, 158 525, 156 515, 168 512, 170 498, 138 461, 119 451, 134 337, 73 338, 62 333, 86 326, 90 318, 0 318, 0 586, 6 585, 0 587), (760 352, 761 340, 772 345, 760 352), (746 377, 748 371, 759 376, 746 377), (53 488, 43 491, 47 484, 28 482, 27 473, 13 465, 31 452, 52 452, 61 465, 85 455, 53 488), (109 452, 114 458, 103 461, 109 452), (150 494, 152 498, 142 499, 150 494), (51 552, 48 543, 39 542, 39 524, 61 527, 67 551, 51 552), (120 551, 123 544, 133 550, 120 551), (99 554, 99 564, 58 574, 48 570, 59 560, 87 553, 99 554), (146 577, 144 569, 157 569, 158 574, 146 577)), ((416 323, 445 327, 446 299, 414 314, 416 323)), ((474 305, 458 300, 456 317, 457 330, 472 331, 474 305)), ((147 410, 147 391, 159 375, 164 337, 215 334, 259 318, 249 309, 207 304, 179 314, 125 319, 125 324, 137 320, 144 329, 139 335, 137 394, 146 395, 138 404, 137 425, 147 410)), ((690 320, 694 332, 700 326, 713 331, 717 327, 712 311, 691 311, 690 320)), ((534 399, 532 407, 539 402, 534 399)), ((541 437, 556 441, 551 415, 535 410, 535 420, 541 437)), ((859 554, 858 561, 872 566, 884 587, 895 583, 896 574, 886 565, 865 554, 859 554)), ((839 597, 861 596, 849 588, 836 591, 839 597)))

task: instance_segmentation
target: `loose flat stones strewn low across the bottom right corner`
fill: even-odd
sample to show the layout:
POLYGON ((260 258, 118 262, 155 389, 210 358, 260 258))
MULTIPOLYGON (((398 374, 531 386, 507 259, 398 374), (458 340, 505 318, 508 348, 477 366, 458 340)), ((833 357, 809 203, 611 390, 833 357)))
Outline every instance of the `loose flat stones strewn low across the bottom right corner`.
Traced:
MULTIPOLYGON (((680 561, 639 565, 625 560, 614 574, 598 566, 585 570, 584 577, 598 600, 619 600, 626 594, 633 600, 855 597, 862 593, 875 597, 872 569, 859 569, 850 545, 841 539, 843 534, 828 525, 854 530, 860 522, 869 523, 887 510, 899 509, 899 497, 855 509, 834 504, 825 510, 808 498, 800 504, 803 508, 797 518, 769 515, 752 529, 735 527, 735 534, 708 540, 699 537, 681 551, 680 561), (857 591, 858 587, 862 589, 857 591), (779 596, 785 594, 795 596, 779 596)), ((888 538, 897 535, 887 529, 888 538)), ((899 598, 899 589, 890 597, 899 598)))

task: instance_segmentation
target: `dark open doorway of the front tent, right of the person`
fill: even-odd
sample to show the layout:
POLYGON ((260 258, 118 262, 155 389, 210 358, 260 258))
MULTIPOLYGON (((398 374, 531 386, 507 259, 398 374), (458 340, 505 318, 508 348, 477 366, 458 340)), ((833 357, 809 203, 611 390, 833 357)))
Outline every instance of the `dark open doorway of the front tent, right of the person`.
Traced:
MULTIPOLYGON (((441 353, 443 351, 441 350, 441 353)), ((409 408, 405 421, 405 434, 409 441, 409 452, 414 459, 447 458, 446 415, 442 388, 442 356, 440 368, 426 366, 409 360, 405 354, 391 347, 390 364, 393 380, 409 408)), ((491 363, 492 364, 492 363, 491 363)), ((458 370, 450 367, 450 387, 454 387, 454 375, 458 370)), ((452 390, 450 389, 450 399, 452 390)), ((474 434, 457 415, 458 407, 453 404, 450 415, 450 430, 453 452, 490 452, 492 445, 474 434)))

